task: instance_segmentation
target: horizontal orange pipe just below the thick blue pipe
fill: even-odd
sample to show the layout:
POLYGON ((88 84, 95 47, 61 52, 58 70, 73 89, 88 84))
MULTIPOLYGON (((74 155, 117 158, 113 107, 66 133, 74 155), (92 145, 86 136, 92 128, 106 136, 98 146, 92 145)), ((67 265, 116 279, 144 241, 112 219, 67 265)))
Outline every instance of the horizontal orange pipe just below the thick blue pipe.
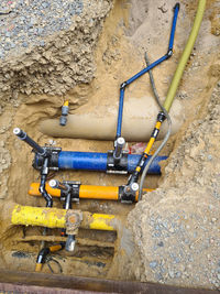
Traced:
MULTIPOLYGON (((29 194, 32 196, 41 196, 38 192, 40 184, 32 183, 29 189, 29 194)), ((143 192, 151 192, 153 189, 143 189, 143 192)), ((54 197, 61 197, 61 189, 52 188, 46 183, 46 192, 54 197)), ((92 185, 80 185, 79 198, 84 199, 103 199, 103 200, 118 200, 119 199, 119 187, 113 186, 92 186, 92 185)), ((138 193, 135 199, 138 200, 138 193)))

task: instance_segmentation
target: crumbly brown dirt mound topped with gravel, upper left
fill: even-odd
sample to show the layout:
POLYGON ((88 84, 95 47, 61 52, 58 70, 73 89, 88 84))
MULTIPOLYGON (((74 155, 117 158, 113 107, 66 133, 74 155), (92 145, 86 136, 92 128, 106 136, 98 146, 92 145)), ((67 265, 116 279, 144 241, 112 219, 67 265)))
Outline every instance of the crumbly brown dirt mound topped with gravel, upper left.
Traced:
MULTIPOLYGON (((96 69, 94 48, 112 1, 106 0, 99 4, 82 1, 81 9, 75 8, 77 13, 65 17, 68 23, 67 20, 63 20, 64 23, 61 22, 63 14, 58 7, 47 23, 48 13, 52 13, 51 10, 56 6, 54 1, 46 3, 50 4, 50 9, 43 9, 46 15, 44 18, 41 17, 44 15, 42 11, 40 17, 36 14, 41 6, 34 1, 30 6, 18 3, 14 9, 11 9, 10 14, 0 17, 1 24, 4 24, 0 25, 0 33, 4 36, 2 50, 8 43, 18 43, 16 46, 14 43, 14 48, 10 45, 10 51, 4 50, 7 55, 0 58, 1 105, 3 101, 16 99, 20 92, 63 95, 76 84, 89 83, 94 77, 96 69), (33 11, 34 15, 32 15, 33 11), (24 20, 20 20, 21 14, 24 20), (47 20, 46 23, 45 20, 47 20), (19 32, 13 32, 16 29, 19 32), (43 30, 40 36, 38 29, 43 30), (32 34, 31 30, 37 30, 37 32, 32 34), (19 35, 23 37, 19 39, 19 35), (24 43, 26 46, 23 45, 24 43)), ((64 6, 63 9, 67 8, 64 6)))

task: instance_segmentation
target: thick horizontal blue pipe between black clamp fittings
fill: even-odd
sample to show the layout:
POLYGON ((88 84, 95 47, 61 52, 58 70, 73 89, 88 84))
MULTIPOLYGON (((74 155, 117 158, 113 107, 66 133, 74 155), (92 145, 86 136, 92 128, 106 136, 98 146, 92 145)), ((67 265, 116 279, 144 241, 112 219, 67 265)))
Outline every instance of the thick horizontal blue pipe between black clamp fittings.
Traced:
MULTIPOLYGON (((128 154, 129 173, 134 172, 140 159, 141 155, 139 154, 128 154)), ((146 163, 148 162, 148 159, 146 160, 146 163)), ((152 163, 148 174, 160 174, 161 166, 158 163, 166 159, 167 156, 157 156, 152 163)), ((62 151, 58 154, 58 168, 107 172, 108 153, 62 151)))

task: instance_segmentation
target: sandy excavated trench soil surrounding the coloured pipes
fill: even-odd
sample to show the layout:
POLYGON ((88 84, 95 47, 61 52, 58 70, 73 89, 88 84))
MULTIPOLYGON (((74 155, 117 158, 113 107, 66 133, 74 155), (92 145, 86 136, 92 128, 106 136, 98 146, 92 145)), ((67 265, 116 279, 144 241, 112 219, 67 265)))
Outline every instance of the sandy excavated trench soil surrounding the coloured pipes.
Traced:
MULTIPOLYGON (((145 66, 144 52, 147 51, 150 58, 154 61, 167 50, 172 9, 175 1, 172 0, 167 3, 161 0, 120 0, 102 1, 102 4, 99 6, 94 1, 91 8, 88 8, 87 4, 85 1, 85 12, 80 18, 77 17, 73 20, 73 26, 62 31, 55 37, 52 35, 45 39, 46 46, 44 48, 36 46, 30 48, 30 52, 21 53, 21 57, 13 55, 10 61, 0 59, 0 78, 6 86, 1 92, 2 112, 0 116, 0 202, 2 207, 9 203, 45 206, 43 197, 28 194, 30 184, 40 181, 40 173, 32 167, 33 153, 31 153, 30 146, 12 134, 14 127, 23 129, 40 145, 62 146, 64 151, 108 152, 108 150, 112 150, 112 141, 53 138, 43 134, 40 131, 40 124, 46 119, 58 119, 61 107, 65 100, 69 101, 72 115, 94 113, 101 118, 105 118, 106 113, 116 116, 120 84, 145 66), (96 13, 95 10, 97 10, 96 13), (95 22, 88 25, 91 14, 95 22), (69 54, 67 54, 68 50, 69 54)), ((185 237, 185 239, 189 239, 189 243, 186 244, 187 248, 183 248, 176 241, 180 235, 175 235, 176 228, 169 227, 173 224, 170 215, 175 215, 176 209, 186 211, 186 219, 189 220, 186 220, 185 216, 180 216, 180 219, 185 219, 185 222, 188 221, 186 229, 189 235, 194 233, 195 228, 201 227, 197 217, 195 217, 197 222, 194 222, 193 226, 190 217, 187 215, 188 207, 193 206, 191 209, 196 210, 196 196, 198 196, 199 187, 200 197, 206 193, 204 187, 206 189, 209 187, 206 174, 202 172, 204 182, 200 179, 200 186, 197 187, 198 171, 202 171, 204 162, 206 162, 202 160, 204 157, 198 159, 197 153, 204 152, 204 155, 200 155, 209 156, 210 165, 206 166, 207 172, 212 168, 213 161, 216 161, 215 174, 217 175, 220 171, 218 170, 218 152, 213 152, 216 141, 208 135, 202 137, 202 131, 206 134, 208 128, 206 123, 209 126, 211 120, 211 126, 215 127, 218 123, 216 113, 219 111, 217 98, 220 97, 220 85, 217 84, 220 76, 219 9, 218 1, 208 1, 198 40, 176 96, 172 111, 179 121, 179 127, 163 150, 163 155, 168 155, 169 159, 162 163, 162 176, 150 175, 145 181, 145 187, 155 189, 160 186, 160 188, 156 192, 147 193, 138 205, 96 199, 74 203, 73 208, 82 211, 120 216, 124 228, 123 233, 121 231, 79 229, 74 253, 62 250, 51 254, 52 259, 43 266, 44 273, 53 271, 64 275, 160 282, 178 286, 219 287, 219 208, 217 208, 219 206, 219 185, 216 182, 212 183, 216 198, 206 196, 204 200, 205 204, 207 200, 207 205, 213 206, 216 209, 212 211, 213 215, 207 213, 207 218, 209 219, 210 216, 210 221, 215 222, 211 236, 206 231, 206 239, 213 239, 210 247, 202 249, 206 250, 206 257, 208 257, 207 263, 199 261, 200 247, 197 248, 202 240, 202 231, 197 229, 196 239, 193 241, 189 237, 185 237), (212 113, 210 109, 216 109, 216 112, 212 113), (190 133, 191 130, 193 133, 190 133), (197 137, 200 138, 198 142, 197 137), (191 138, 195 138, 196 141, 191 141, 191 138), (208 144, 209 140, 211 140, 210 145, 208 144), (186 159, 185 166, 187 154, 190 155, 190 160, 186 159), (193 175, 194 171, 196 176, 193 175), (183 177, 186 181, 183 181, 183 177), (197 183, 195 190, 194 182, 197 183), (191 192, 188 198, 185 197, 185 203, 184 200, 178 202, 184 189, 188 189, 187 183, 190 184, 191 192), (168 195, 167 198, 166 195, 168 195), (182 206, 178 208, 180 202, 182 206), (161 225, 160 221, 164 218, 166 224, 161 225), (158 227, 158 230, 157 227, 155 229, 155 226, 158 227), (168 237, 163 235, 160 226, 168 231, 167 236, 168 233, 174 235, 172 242, 182 249, 183 254, 179 253, 180 249, 177 252, 173 247, 168 247, 170 240, 167 241, 168 237), (154 231, 152 227, 157 231, 154 231), (161 252, 160 250, 166 243, 166 250, 161 252), (196 249, 190 251, 190 246, 196 249), (190 252, 188 253, 187 250, 190 252), (170 257, 172 251, 174 255, 176 254, 175 262, 170 257), (191 268, 187 268, 188 265, 183 261, 184 254, 188 258, 190 255, 191 268), (211 259, 212 262, 209 262, 211 259), (197 270, 198 272, 195 274, 197 270)), ((178 58, 190 32, 195 11, 194 1, 180 1, 174 55, 154 69, 162 99, 166 96, 178 58)), ((129 105, 135 99, 136 101, 148 99, 151 104, 152 97, 146 74, 128 88, 125 104, 129 105)), ((131 104, 131 106, 133 105, 131 104)), ((147 106, 145 110, 147 112, 147 106)), ((89 119, 87 123, 89 124, 89 119)), ((142 127, 140 126, 140 128, 142 127)), ((213 132, 213 130, 209 131, 213 132)), ((219 130, 216 132, 218 133, 219 130)), ((133 150, 140 148, 135 142, 129 142, 129 146, 133 150)), ((153 151, 156 146, 157 144, 153 151)), ((128 179, 128 175, 86 171, 58 171, 51 173, 50 177, 59 181, 80 181, 84 185, 103 186, 119 186, 128 179)), ((59 199, 54 199, 54 207, 62 208, 59 199)), ((178 213, 176 214, 178 215, 178 213)), ((202 224, 207 230, 209 229, 208 222, 207 224, 202 224)), ((43 229, 38 227, 9 228, 9 224, 4 222, 3 218, 0 230, 2 232, 0 238, 1 268, 7 270, 34 271, 42 241, 45 241, 46 244, 54 244, 63 240, 58 229, 48 229, 44 236, 43 229)), ((201 244, 201 248, 204 247, 201 244)))

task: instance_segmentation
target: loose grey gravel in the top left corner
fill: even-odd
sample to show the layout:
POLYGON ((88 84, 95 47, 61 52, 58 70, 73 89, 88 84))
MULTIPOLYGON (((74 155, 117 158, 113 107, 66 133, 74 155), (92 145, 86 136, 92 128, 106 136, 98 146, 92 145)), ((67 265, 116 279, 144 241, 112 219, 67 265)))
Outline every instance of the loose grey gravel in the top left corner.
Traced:
POLYGON ((0 3, 0 58, 11 51, 45 46, 44 37, 68 30, 73 15, 84 10, 80 0, 18 0, 0 3))

